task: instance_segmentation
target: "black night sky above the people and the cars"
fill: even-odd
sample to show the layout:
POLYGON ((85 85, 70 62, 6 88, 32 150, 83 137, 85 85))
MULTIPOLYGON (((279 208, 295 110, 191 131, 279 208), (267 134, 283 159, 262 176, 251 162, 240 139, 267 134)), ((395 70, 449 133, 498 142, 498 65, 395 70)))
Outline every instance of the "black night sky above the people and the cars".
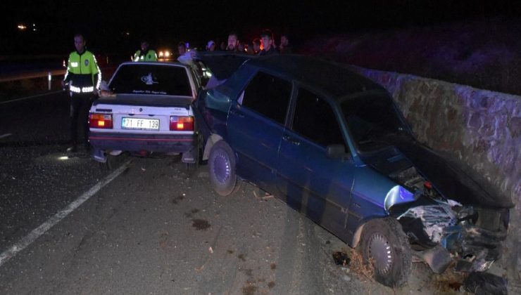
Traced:
POLYGON ((83 32, 89 48, 129 53, 146 36, 153 46, 225 39, 237 31, 251 41, 265 27, 294 39, 439 22, 520 16, 520 3, 468 0, 365 1, 8 1, 2 4, 0 55, 66 53, 73 34, 83 32), (28 25, 19 32, 18 23, 28 25), (37 32, 31 32, 32 23, 37 32), (126 36, 124 32, 129 32, 126 36))

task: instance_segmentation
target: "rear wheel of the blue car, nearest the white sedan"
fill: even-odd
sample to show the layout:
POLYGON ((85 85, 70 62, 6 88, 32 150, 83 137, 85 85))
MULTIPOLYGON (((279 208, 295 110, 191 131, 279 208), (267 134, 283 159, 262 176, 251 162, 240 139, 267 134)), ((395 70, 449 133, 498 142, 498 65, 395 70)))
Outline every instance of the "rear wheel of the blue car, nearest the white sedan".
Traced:
POLYGON ((235 174, 235 157, 232 148, 224 140, 215 143, 210 150, 208 169, 210 183, 215 192, 227 196, 236 191, 238 185, 235 174))

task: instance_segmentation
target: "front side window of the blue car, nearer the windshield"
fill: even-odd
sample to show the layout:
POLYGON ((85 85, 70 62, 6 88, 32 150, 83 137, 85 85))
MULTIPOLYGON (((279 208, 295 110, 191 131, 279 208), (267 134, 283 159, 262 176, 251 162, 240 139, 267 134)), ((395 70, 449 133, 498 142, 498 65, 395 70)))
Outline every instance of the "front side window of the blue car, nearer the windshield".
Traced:
POLYGON ((299 89, 296 97, 293 131, 318 145, 344 145, 344 138, 334 112, 326 100, 320 96, 299 89))

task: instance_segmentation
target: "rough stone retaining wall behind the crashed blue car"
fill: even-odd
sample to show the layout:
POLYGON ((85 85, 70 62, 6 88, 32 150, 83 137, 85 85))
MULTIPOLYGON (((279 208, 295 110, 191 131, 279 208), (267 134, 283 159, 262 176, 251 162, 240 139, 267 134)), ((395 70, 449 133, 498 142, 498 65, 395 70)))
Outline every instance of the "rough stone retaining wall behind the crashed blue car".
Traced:
MULTIPOLYGON (((406 74, 354 68, 393 96, 418 139, 483 176, 510 197, 510 228, 501 263, 521 282, 521 96, 406 74)), ((481 177, 479 177, 481 178, 481 177)))

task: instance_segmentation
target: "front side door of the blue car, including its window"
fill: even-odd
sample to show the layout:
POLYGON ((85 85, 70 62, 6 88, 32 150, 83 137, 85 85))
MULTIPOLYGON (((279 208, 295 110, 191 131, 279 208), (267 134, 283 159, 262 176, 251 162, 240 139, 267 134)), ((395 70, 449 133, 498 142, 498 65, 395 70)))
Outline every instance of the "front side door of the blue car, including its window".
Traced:
POLYGON ((327 157, 327 145, 344 145, 341 125, 327 100, 300 88, 277 163, 277 188, 289 206, 341 235, 354 181, 351 157, 327 157))

